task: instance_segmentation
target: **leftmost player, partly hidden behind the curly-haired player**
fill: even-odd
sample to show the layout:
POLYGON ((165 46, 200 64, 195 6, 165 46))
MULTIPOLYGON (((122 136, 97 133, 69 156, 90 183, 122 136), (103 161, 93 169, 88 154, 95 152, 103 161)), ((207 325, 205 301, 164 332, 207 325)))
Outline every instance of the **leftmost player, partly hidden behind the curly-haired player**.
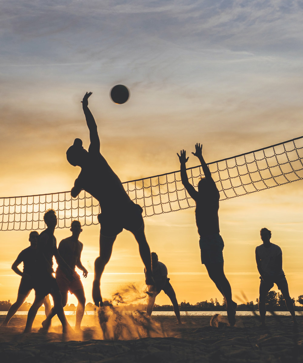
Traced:
MULTIPOLYGON (((25 299, 28 297, 29 293, 34 288, 33 278, 35 276, 35 269, 33 267, 36 263, 38 238, 38 232, 32 231, 29 233, 28 240, 31 245, 28 248, 22 250, 16 258, 16 261, 12 264, 12 270, 21 276, 21 281, 18 289, 17 301, 9 308, 5 320, 1 324, 2 326, 7 326, 8 322, 16 314, 17 310, 19 310, 25 299), (18 268, 21 262, 23 262, 23 272, 21 272, 18 268)), ((47 315, 51 310, 51 302, 49 301, 48 296, 45 297, 43 303, 45 307, 45 315, 47 315)))

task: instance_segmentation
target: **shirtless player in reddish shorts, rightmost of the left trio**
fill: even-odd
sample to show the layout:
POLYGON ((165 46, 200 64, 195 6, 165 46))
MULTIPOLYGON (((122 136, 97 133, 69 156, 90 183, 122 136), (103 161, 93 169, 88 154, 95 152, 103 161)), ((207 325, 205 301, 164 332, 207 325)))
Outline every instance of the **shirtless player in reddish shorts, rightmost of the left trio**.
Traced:
MULTIPOLYGON (((83 271, 83 276, 87 277, 87 269, 81 264, 81 252, 83 250, 83 243, 79 241, 80 233, 82 232, 81 224, 79 221, 72 221, 71 224, 72 235, 65 238, 59 243, 58 251, 63 260, 73 270, 73 281, 68 280, 63 270, 58 266, 56 270, 56 281, 59 286, 60 293, 62 295, 63 307, 67 304, 68 291, 74 294, 78 300, 78 306, 76 310, 76 325, 75 330, 81 330, 80 325, 84 315, 85 309, 85 295, 80 276, 76 273, 75 268, 83 271)), ((51 313, 47 316, 43 322, 43 328, 48 330, 49 324, 53 316, 55 316, 55 310, 52 308, 51 313)))

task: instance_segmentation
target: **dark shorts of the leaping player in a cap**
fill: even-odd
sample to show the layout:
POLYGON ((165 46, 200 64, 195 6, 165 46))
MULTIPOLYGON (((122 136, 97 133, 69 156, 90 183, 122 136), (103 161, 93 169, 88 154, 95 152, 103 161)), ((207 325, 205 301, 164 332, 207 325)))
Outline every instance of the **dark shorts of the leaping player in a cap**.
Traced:
POLYGON ((100 234, 104 237, 117 236, 124 229, 136 232, 143 225, 143 209, 139 204, 129 203, 122 207, 117 206, 115 211, 104 211, 98 215, 101 229, 100 234))

